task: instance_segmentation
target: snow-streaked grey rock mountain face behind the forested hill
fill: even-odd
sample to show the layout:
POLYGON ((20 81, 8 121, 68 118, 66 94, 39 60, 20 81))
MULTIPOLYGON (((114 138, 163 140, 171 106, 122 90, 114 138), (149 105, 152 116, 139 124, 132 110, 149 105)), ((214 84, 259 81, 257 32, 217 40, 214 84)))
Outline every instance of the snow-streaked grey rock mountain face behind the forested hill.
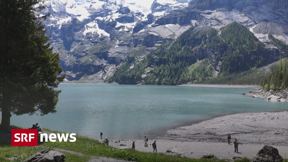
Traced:
POLYGON ((190 26, 238 22, 278 59, 283 51, 268 35, 288 42, 287 8, 286 0, 48 0, 43 14, 51 13, 44 24, 66 80, 101 82, 122 62, 142 60, 190 26))

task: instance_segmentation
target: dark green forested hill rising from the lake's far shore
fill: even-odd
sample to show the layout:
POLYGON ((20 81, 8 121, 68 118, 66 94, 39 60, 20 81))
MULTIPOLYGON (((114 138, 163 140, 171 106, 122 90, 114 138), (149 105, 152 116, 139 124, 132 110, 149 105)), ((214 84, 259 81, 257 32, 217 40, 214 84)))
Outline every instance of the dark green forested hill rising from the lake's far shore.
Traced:
POLYGON ((157 85, 259 84, 266 72, 256 68, 269 63, 269 55, 263 51, 264 44, 236 22, 219 31, 191 27, 145 58, 128 57, 129 61, 108 81, 157 85))

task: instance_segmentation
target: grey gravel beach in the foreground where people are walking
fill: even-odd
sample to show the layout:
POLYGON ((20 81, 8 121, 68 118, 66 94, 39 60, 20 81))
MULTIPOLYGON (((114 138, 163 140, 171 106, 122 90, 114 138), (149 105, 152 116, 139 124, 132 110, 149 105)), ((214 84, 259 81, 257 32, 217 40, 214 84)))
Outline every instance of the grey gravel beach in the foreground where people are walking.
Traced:
MULTIPOLYGON (((279 154, 285 158, 288 152, 287 120, 286 111, 225 115, 168 130, 165 137, 150 139, 146 135, 149 138, 148 147, 144 147, 143 139, 110 140, 109 146, 131 148, 132 141, 135 141, 136 150, 153 152, 151 144, 156 140, 158 153, 168 155, 201 158, 205 154, 214 154, 219 159, 252 159, 259 149, 270 145, 278 149, 279 154), (227 134, 231 134, 231 143, 234 138, 239 141, 240 153, 234 153, 233 145, 228 145, 227 134), (173 153, 167 153, 167 149, 173 153)), ((101 142, 100 139, 97 140, 101 142)))

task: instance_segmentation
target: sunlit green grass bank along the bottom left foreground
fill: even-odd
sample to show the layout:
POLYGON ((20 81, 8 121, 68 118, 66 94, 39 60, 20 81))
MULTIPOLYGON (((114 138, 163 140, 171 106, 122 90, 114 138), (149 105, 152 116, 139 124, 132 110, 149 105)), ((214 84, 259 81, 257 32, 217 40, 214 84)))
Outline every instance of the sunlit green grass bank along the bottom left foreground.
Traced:
MULTIPOLYGON (((51 131, 49 129, 44 129, 51 131)), ((53 133, 61 133, 58 131, 51 131, 53 133)), ((107 157, 115 159, 123 159, 128 161, 141 161, 141 162, 162 162, 162 161, 179 161, 179 162, 224 162, 225 160, 219 160, 217 158, 212 159, 191 159, 180 156, 165 155, 163 153, 152 152, 139 152, 134 149, 117 149, 110 146, 106 146, 104 143, 100 143, 98 140, 93 140, 87 137, 76 136, 76 142, 43 142, 38 144, 38 147, 12 147, 10 144, 0 141, 0 161, 9 161, 7 158, 16 157, 14 161, 23 161, 25 158, 34 155, 36 152, 42 149, 64 149, 66 151, 59 151, 66 155, 66 161, 88 161, 90 157, 107 157), (82 155, 71 154, 69 151, 78 152, 82 155)))

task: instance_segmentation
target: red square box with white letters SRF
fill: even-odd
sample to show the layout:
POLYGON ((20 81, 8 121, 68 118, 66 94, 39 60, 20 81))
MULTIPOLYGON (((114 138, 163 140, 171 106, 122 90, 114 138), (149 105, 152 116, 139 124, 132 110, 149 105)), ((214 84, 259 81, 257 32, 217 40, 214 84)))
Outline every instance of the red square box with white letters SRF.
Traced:
POLYGON ((38 146, 38 130, 11 129, 11 146, 38 146))

